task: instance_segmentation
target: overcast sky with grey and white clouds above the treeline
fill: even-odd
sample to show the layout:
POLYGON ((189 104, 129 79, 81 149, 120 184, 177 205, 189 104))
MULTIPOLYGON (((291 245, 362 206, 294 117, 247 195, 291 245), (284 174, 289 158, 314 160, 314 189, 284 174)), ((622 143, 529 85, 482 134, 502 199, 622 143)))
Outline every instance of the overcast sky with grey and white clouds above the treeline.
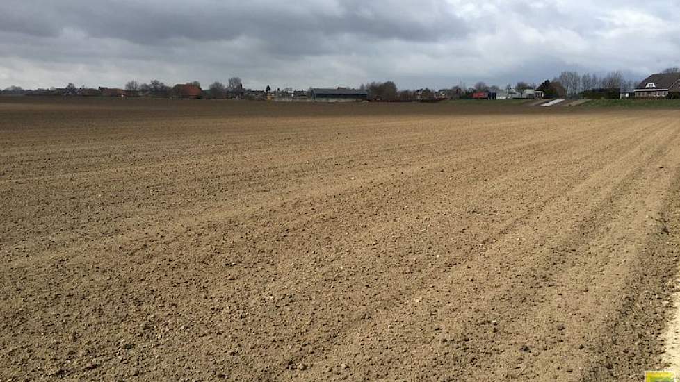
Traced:
POLYGON ((0 0, 0 88, 399 88, 680 65, 678 0, 0 0))

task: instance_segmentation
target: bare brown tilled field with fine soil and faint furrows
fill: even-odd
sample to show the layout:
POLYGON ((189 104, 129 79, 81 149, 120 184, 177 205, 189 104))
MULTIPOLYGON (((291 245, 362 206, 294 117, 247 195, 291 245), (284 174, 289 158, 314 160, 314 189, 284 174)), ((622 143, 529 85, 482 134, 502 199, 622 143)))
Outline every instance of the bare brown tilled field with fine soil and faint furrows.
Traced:
POLYGON ((640 380, 679 120, 0 99, 0 377, 640 380))

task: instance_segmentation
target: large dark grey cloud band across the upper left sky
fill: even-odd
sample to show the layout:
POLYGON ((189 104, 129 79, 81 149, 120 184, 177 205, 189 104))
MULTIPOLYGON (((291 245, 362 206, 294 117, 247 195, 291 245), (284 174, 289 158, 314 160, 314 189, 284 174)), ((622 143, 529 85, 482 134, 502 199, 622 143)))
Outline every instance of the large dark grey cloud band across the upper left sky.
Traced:
POLYGON ((305 34, 346 33, 422 41, 466 31, 462 20, 435 0, 409 6, 394 0, 298 1, 295 6, 274 1, 6 1, 0 30, 54 36, 76 28, 93 37, 138 44, 173 38, 232 40, 239 35, 263 40, 282 36, 294 44, 305 34), (432 17, 423 19, 423 14, 432 17))

